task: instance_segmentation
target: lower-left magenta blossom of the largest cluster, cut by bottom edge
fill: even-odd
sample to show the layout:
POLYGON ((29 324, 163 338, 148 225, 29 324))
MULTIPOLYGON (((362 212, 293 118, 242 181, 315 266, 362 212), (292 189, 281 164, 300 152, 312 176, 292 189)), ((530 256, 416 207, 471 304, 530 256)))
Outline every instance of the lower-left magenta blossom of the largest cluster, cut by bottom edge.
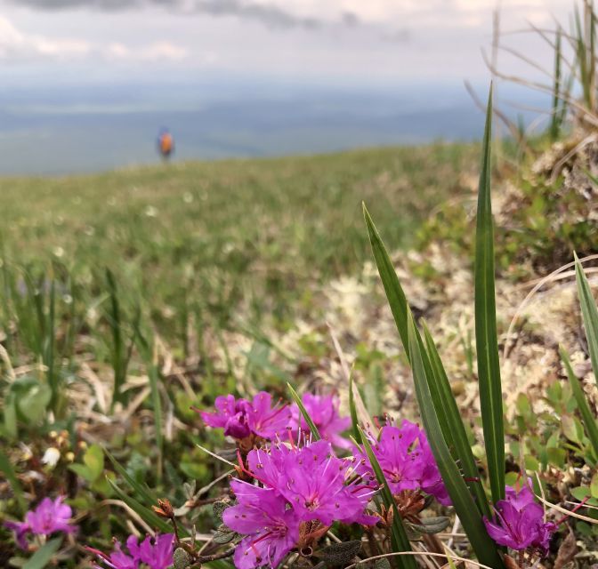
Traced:
POLYGON ((299 540, 299 518, 271 488, 240 480, 233 480, 230 486, 238 504, 224 510, 222 521, 235 532, 246 534, 235 549, 235 566, 276 567, 299 540))

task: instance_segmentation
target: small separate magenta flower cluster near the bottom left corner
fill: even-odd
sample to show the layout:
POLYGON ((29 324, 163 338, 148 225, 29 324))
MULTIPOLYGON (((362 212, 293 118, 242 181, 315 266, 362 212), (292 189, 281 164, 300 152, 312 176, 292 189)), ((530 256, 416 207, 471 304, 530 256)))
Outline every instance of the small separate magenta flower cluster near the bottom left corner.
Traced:
POLYGON ((55 500, 44 498, 36 509, 30 510, 24 522, 4 522, 14 532, 15 541, 21 549, 28 549, 27 535, 52 535, 53 533, 75 533, 77 525, 71 525, 72 510, 59 496, 55 500))

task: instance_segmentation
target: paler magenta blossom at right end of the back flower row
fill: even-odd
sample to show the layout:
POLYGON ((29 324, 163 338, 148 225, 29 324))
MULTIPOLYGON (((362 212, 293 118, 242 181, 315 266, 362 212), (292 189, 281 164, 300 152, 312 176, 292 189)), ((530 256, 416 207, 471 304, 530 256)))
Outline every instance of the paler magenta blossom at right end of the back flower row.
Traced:
MULTIPOLYGON (((303 405, 311 417, 311 421, 319 430, 319 435, 323 439, 330 441, 333 445, 339 448, 350 448, 351 443, 340 436, 343 430, 349 429, 351 419, 349 417, 341 417, 338 413, 339 401, 335 396, 319 396, 311 393, 303 394, 301 398, 303 405)), ((297 405, 292 406, 293 420, 291 427, 293 428, 295 437, 299 428, 303 432, 309 432, 307 422, 299 411, 297 405)))

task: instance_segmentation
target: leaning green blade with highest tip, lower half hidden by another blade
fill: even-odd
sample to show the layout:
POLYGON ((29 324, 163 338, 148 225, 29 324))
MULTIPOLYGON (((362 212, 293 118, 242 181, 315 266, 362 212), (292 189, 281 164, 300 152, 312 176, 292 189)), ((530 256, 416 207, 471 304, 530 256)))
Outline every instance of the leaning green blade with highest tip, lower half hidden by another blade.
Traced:
POLYGON ((366 220, 366 226, 368 227, 369 242, 372 245, 376 267, 378 268, 378 273, 380 274, 384 286, 384 293, 386 293, 386 298, 391 307, 394 322, 399 330, 400 340, 403 342, 403 347, 408 353, 407 298, 405 297, 403 288, 400 285, 399 277, 392 265, 392 260, 389 257, 388 252, 386 252, 382 238, 374 225, 374 221, 372 221, 372 218, 369 215, 368 208, 366 207, 366 204, 362 204, 362 206, 363 217, 366 220))

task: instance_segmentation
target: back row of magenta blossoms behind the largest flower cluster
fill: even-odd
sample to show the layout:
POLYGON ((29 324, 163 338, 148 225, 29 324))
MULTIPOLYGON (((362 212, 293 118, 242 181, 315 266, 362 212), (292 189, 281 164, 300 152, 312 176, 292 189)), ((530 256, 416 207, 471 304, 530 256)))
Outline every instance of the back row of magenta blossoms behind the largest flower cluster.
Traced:
MULTIPOLYGON (((319 435, 340 448, 349 448, 349 441, 340 436, 348 429, 351 420, 338 413, 339 401, 335 396, 319 396, 306 393, 303 405, 319 430, 319 435)), ((201 418, 210 427, 224 429, 228 437, 243 439, 257 435, 267 440, 286 438, 290 430, 297 440, 299 431, 309 433, 297 405, 273 405, 272 397, 260 391, 251 402, 236 399, 232 395, 216 397, 214 413, 201 412, 201 418)))

